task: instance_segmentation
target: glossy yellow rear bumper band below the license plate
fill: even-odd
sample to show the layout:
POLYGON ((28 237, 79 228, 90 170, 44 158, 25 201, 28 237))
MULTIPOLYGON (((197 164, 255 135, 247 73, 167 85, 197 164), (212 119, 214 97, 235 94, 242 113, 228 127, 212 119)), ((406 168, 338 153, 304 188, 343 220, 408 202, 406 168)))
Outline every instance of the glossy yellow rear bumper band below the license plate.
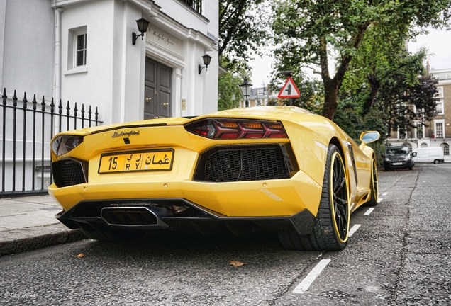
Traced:
POLYGON ((318 212, 321 186, 303 171, 290 179, 207 183, 160 181, 82 183, 48 188, 64 210, 84 201, 105 199, 184 199, 225 217, 286 217, 308 210, 318 212))

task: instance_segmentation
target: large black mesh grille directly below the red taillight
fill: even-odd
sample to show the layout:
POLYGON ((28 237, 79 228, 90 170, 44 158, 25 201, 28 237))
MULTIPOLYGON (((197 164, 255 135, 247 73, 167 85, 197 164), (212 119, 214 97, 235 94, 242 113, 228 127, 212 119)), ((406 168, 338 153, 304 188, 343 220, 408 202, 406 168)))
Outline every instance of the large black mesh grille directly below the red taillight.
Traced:
POLYGON ((287 179, 289 171, 279 145, 217 148, 201 156, 195 180, 229 182, 287 179))

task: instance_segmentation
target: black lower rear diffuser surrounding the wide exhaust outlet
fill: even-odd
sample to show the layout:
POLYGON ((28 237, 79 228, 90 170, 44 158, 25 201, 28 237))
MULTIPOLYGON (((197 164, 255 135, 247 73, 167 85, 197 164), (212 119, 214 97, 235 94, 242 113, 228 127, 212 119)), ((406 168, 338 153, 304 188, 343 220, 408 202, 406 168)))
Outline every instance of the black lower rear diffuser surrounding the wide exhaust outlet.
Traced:
POLYGON ((243 234, 257 229, 277 232, 294 228, 299 234, 310 234, 315 217, 308 210, 289 217, 225 217, 187 200, 174 198, 86 201, 60 212, 57 219, 69 228, 88 231, 174 229, 186 232, 192 229, 201 234, 224 230, 243 234), (189 212, 177 213, 174 207, 186 208, 189 212))

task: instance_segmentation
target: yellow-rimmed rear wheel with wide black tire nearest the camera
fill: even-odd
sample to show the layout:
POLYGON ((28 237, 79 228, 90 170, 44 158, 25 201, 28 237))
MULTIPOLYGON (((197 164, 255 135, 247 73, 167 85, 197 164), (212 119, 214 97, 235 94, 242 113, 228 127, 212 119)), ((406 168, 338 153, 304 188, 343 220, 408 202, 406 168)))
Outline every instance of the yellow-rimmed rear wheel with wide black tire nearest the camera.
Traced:
POLYGON ((301 235, 296 229, 279 232, 286 249, 339 251, 347 244, 350 224, 349 182, 343 157, 335 145, 329 145, 325 163, 323 191, 313 232, 301 235))

